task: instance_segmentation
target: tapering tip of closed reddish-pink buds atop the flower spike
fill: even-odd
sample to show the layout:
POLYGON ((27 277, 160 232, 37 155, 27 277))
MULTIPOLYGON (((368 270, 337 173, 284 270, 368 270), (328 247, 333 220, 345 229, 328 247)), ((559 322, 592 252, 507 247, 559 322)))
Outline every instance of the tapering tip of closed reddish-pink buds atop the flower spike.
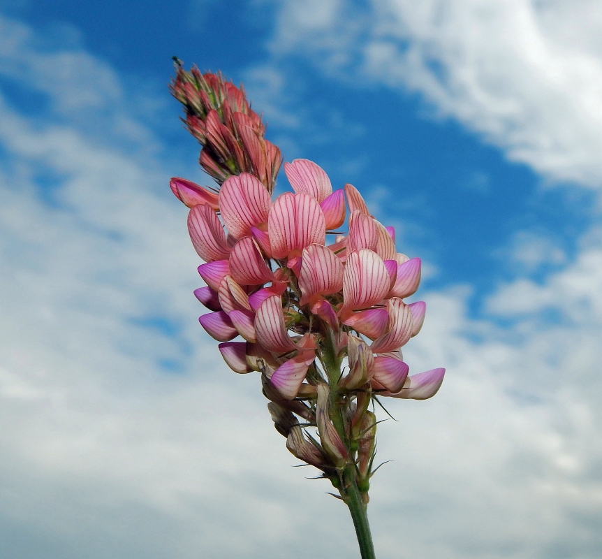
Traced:
MULTIPOLYGON (((203 145, 199 163, 221 184, 231 175, 251 173, 271 192, 281 166, 278 147, 264 138, 265 125, 251 110, 242 87, 221 74, 187 72, 175 59, 172 95, 184 105, 184 122, 203 145)), ((186 203, 186 202, 184 202, 186 203)))

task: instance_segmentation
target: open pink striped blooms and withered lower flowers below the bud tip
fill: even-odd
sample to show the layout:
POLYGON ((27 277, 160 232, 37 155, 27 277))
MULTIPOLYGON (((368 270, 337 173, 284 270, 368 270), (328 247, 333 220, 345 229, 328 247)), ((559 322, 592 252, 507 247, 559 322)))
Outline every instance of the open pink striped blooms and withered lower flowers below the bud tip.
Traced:
POLYGON ((199 320, 232 370, 260 372, 288 449, 321 469, 342 498, 353 477, 367 502, 372 399, 430 398, 445 372, 409 376, 402 357, 425 317, 425 303, 404 302, 418 289, 420 259, 397 252, 393 228, 370 215, 351 184, 332 191, 306 159, 284 170, 293 192, 273 201, 251 173, 226 178, 219 193, 172 179, 205 261, 198 272, 207 286, 195 294, 212 312, 199 320), (345 222, 348 233, 337 233, 345 222), (327 235, 335 235, 330 244, 327 235))

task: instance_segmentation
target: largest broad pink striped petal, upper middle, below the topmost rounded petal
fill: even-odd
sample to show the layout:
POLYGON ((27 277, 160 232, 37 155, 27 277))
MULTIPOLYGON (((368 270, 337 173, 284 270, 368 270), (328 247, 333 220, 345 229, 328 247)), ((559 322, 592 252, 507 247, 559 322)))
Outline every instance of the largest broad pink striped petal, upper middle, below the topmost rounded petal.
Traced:
POLYGON ((267 219, 272 256, 281 259, 307 245, 323 245, 326 234, 324 212, 316 198, 300 192, 281 194, 270 208, 267 219))

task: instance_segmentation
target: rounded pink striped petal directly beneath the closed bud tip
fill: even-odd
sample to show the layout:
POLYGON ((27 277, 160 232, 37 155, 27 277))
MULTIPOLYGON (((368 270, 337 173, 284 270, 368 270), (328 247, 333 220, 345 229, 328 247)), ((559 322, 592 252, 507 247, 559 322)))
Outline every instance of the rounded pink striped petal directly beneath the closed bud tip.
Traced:
POLYGON ((256 177, 240 173, 221 185, 219 208, 228 231, 240 239, 251 235, 251 227, 267 220, 270 193, 256 177))

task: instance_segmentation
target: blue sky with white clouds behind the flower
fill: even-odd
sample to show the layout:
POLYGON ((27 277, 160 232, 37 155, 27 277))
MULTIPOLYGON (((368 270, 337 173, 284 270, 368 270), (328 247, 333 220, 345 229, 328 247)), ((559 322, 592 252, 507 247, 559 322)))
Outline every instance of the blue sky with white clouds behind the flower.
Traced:
POLYGON ((379 557, 598 556, 598 3, 0 12, 0 555, 354 553, 258 379, 196 321, 168 179, 205 178, 166 88, 177 55, 244 82, 286 159, 355 184, 423 258, 406 360, 448 375, 381 428, 379 557))

